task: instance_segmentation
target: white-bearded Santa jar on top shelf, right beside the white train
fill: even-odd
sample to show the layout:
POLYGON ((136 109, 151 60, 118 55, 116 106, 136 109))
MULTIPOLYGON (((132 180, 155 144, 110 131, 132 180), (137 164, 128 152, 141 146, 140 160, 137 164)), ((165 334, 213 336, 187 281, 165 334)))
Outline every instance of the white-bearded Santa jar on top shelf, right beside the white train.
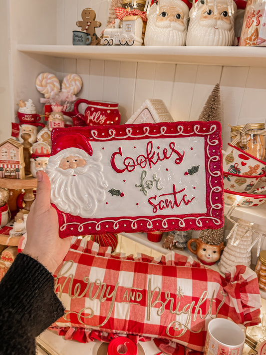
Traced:
POLYGON ((189 18, 188 0, 157 0, 147 12, 145 45, 185 45, 189 18))

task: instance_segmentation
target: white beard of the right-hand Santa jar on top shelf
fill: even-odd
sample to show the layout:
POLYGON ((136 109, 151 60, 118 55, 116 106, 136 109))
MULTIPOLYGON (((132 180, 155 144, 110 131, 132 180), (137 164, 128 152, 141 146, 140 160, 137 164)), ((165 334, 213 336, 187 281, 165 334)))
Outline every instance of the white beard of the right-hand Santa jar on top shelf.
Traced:
POLYGON ((186 45, 233 45, 235 38, 233 16, 231 23, 216 19, 200 21, 199 16, 200 12, 190 18, 186 45))

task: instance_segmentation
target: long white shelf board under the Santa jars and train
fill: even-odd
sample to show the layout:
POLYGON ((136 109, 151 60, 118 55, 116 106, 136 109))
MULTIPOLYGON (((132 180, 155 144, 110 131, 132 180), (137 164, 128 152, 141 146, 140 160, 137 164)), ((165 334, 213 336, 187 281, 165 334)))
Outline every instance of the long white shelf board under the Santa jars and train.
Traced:
POLYGON ((266 47, 17 44, 16 48, 27 54, 41 54, 61 58, 228 66, 266 66, 266 47))

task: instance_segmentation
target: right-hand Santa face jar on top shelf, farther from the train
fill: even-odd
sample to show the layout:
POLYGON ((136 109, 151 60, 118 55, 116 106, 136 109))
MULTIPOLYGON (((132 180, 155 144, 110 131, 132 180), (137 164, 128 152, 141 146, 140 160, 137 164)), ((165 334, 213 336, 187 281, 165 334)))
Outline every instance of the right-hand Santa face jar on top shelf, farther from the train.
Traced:
POLYGON ((190 10, 186 45, 234 45, 236 12, 234 1, 197 1, 190 10))

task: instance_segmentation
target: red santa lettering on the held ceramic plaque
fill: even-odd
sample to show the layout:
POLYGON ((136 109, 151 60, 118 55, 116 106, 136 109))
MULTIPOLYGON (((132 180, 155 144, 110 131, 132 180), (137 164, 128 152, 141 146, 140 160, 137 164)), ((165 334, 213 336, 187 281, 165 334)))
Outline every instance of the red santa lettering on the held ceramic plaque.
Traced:
POLYGON ((195 197, 192 197, 191 200, 188 199, 188 196, 186 194, 184 194, 181 199, 178 199, 178 194, 180 194, 181 192, 185 191, 185 188, 182 190, 177 191, 176 190, 176 185, 173 184, 173 192, 169 193, 169 194, 162 194, 158 196, 158 199, 161 198, 161 200, 158 202, 157 200, 157 195, 155 195, 154 197, 150 197, 148 199, 148 202, 150 205, 153 206, 153 213, 156 213, 158 210, 162 211, 166 208, 172 208, 174 209, 175 207, 179 207, 181 205, 182 202, 184 202, 184 204, 187 206, 195 197), (169 200, 168 198, 165 198, 165 196, 170 196, 171 199, 169 200), (152 200, 155 200, 154 202, 152 202, 152 200))

